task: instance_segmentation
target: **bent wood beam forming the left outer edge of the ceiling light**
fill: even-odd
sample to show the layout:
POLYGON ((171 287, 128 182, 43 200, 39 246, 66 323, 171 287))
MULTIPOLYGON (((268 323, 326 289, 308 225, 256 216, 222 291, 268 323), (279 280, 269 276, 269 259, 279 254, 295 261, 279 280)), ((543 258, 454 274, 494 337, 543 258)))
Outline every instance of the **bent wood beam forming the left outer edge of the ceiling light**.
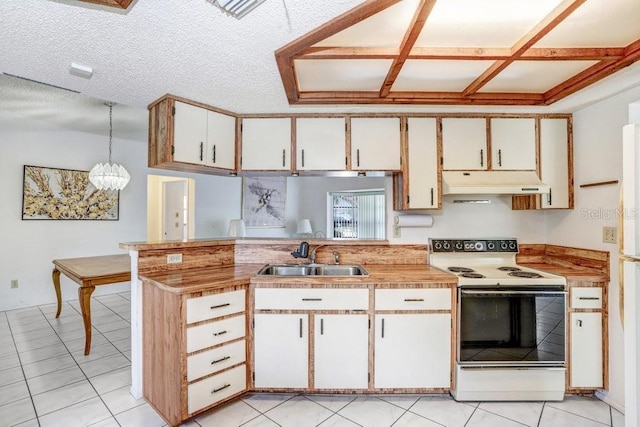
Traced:
POLYGON ((276 50, 276 64, 280 71, 282 84, 289 103, 295 103, 298 99, 299 86, 296 79, 293 58, 297 52, 308 49, 314 44, 363 21, 376 13, 393 6, 401 0, 367 0, 355 8, 343 13, 335 19, 312 30, 302 37, 287 43, 276 50))

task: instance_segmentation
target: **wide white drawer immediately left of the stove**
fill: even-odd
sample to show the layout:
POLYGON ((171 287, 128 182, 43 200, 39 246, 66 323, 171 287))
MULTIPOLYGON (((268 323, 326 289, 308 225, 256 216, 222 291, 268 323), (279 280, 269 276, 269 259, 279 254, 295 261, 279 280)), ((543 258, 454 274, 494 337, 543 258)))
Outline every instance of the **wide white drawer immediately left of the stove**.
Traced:
POLYGON ((376 289, 376 310, 451 310, 451 290, 376 289))

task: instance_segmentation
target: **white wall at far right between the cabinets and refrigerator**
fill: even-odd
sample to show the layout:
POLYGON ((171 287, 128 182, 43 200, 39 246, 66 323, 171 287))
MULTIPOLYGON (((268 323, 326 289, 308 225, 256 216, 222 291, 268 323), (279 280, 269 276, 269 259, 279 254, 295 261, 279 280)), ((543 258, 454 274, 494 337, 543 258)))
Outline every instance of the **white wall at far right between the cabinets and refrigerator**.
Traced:
MULTIPOLYGON (((573 149, 575 209, 548 215, 547 240, 551 244, 609 251, 609 392, 604 398, 624 405, 623 336, 619 311, 618 245, 602 243, 602 227, 618 226, 616 209, 620 185, 580 188, 581 184, 622 180, 622 126, 628 123, 631 102, 640 88, 617 95, 574 113, 573 149)), ((636 110, 637 111, 637 110, 636 110)))

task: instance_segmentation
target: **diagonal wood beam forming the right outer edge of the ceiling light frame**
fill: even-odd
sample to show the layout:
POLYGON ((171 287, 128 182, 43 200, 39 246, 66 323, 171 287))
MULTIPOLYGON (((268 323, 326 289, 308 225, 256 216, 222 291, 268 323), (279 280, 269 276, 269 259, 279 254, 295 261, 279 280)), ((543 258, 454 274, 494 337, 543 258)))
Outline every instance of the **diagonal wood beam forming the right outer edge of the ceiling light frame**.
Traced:
POLYGON ((640 61, 640 39, 627 45, 624 50, 625 55, 623 58, 618 60, 601 61, 545 92, 545 104, 552 104, 617 71, 620 71, 625 67, 628 67, 635 62, 640 61))

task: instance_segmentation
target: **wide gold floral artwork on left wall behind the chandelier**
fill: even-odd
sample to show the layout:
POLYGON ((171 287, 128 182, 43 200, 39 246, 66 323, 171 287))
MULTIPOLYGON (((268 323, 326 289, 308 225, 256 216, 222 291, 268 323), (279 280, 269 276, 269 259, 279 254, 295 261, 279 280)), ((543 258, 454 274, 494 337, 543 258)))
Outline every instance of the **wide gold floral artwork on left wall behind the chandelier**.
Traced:
POLYGON ((22 219, 117 221, 120 193, 97 190, 88 171, 24 166, 22 219))

